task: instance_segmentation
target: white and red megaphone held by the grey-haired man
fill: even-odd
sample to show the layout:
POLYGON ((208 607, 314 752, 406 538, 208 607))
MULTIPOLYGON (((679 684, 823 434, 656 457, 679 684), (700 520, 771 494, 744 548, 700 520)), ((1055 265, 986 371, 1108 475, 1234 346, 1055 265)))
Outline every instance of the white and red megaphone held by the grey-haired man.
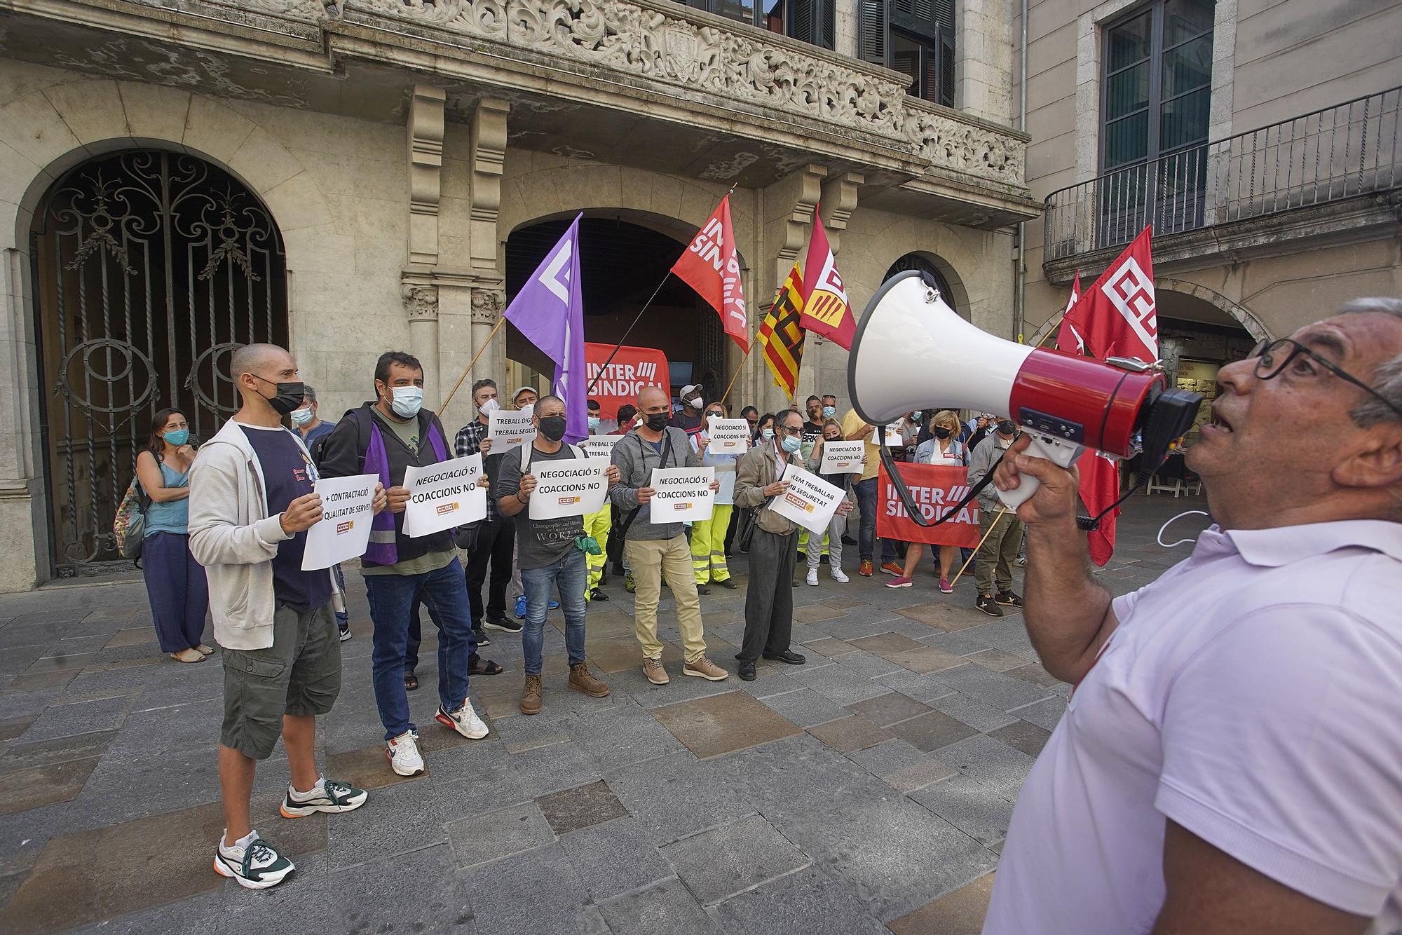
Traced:
MULTIPOLYGON (((1168 390, 1164 373, 1140 360, 1102 363, 995 338, 955 314, 934 279, 914 269, 886 280, 862 313, 847 391, 878 426, 935 404, 1007 415, 1032 436, 1028 454, 1061 467, 1087 449, 1129 457, 1138 430, 1145 481, 1203 400, 1168 390)), ((1016 509, 1036 488, 1019 474, 1016 489, 998 496, 1016 509)))

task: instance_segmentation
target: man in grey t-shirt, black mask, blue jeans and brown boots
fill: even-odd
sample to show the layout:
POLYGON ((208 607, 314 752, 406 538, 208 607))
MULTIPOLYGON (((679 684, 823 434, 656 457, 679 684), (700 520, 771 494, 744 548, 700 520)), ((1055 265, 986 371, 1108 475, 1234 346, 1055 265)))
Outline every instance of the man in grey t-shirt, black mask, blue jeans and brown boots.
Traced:
MULTIPOLYGON (((520 451, 502 457, 501 472, 492 493, 505 516, 516 517, 516 562, 526 592, 526 629, 522 631, 522 652, 526 656, 526 687, 522 691, 522 714, 540 714, 541 643, 550 589, 555 586, 559 604, 565 610, 565 648, 569 650, 569 687, 594 698, 608 694, 608 685, 589 674, 585 664, 585 517, 561 516, 548 520, 530 519, 530 498, 536 489, 531 464, 583 458, 572 444, 564 444, 565 402, 545 395, 536 402, 536 440, 520 451)), ((608 486, 618 482, 618 468, 606 471, 608 486)))

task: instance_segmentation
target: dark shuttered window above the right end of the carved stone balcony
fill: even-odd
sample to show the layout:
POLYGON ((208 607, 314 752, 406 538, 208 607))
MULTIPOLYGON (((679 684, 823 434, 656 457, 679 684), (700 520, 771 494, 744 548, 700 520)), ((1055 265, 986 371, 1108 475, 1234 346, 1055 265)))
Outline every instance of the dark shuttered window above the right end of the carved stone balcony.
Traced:
POLYGON ((955 104, 952 0, 858 0, 859 57, 910 77, 907 94, 955 104))

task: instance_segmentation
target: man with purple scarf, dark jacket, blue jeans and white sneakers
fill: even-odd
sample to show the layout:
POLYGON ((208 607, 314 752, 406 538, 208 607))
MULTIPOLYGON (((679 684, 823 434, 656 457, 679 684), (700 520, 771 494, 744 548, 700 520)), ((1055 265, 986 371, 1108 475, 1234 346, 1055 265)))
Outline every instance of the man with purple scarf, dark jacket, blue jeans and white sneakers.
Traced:
POLYGON ((327 436, 320 467, 322 477, 377 474, 388 495, 388 510, 370 526, 360 573, 374 622, 374 702, 384 723, 384 756, 391 770, 409 777, 423 772, 419 735, 409 721, 404 690, 404 657, 415 600, 423 601, 439 628, 435 721, 474 740, 486 736, 486 725, 467 698, 468 657, 475 646, 454 530, 414 538, 404 534, 404 507, 409 502, 405 470, 451 460, 443 425, 422 408, 423 367, 418 359, 398 350, 380 355, 374 393, 374 401, 346 412, 327 436))

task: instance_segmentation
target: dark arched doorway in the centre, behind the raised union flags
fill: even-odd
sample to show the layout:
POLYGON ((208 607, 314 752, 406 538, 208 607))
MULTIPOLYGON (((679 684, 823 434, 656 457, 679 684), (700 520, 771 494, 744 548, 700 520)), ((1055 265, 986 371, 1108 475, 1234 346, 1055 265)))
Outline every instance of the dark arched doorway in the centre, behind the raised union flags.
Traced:
MULTIPOLYGON (((512 231, 506 240, 508 301, 572 221, 573 214, 569 214, 512 231)), ((585 341, 618 342, 662 283, 625 343, 662 350, 667 356, 673 390, 687 383, 702 383, 707 398, 714 400, 726 378, 721 376, 726 374, 726 338, 715 310, 684 282, 667 278, 672 264, 686 250, 687 238, 695 233, 680 223, 673 226, 677 227, 674 237, 624 220, 617 212, 608 217, 586 214, 580 219, 579 278, 585 341)), ((503 395, 524 383, 548 385, 554 377, 554 364, 510 324, 506 325, 506 357, 510 387, 502 388, 503 395)), ((611 415, 604 414, 606 418, 611 415)))

